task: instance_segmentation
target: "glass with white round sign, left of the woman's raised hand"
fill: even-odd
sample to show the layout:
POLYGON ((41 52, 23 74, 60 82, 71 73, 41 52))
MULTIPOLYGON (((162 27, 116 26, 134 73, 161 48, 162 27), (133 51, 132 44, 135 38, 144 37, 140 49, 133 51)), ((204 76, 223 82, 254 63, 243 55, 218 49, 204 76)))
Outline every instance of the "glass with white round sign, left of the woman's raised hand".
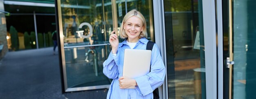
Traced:
POLYGON ((102 64, 110 48, 97 44, 108 44, 111 0, 61 0, 61 13, 67 88, 109 85, 102 64))

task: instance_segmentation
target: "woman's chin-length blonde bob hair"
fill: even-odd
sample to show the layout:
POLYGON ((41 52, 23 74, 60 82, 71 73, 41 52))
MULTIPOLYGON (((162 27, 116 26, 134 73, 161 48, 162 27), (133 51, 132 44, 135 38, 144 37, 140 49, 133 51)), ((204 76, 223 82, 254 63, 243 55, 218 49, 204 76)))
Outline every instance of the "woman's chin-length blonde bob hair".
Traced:
POLYGON ((124 38, 128 38, 128 35, 125 33, 125 30, 124 30, 124 24, 125 22, 131 18, 132 16, 137 16, 138 18, 141 19, 141 21, 143 22, 142 26, 143 26, 143 30, 142 32, 139 34, 139 38, 142 38, 142 37, 148 37, 148 33, 147 33, 147 29, 146 29, 146 20, 144 18, 144 16, 137 10, 133 9, 131 11, 129 11, 128 13, 126 13, 126 15, 124 16, 124 19, 123 19, 123 22, 121 24, 121 28, 120 28, 120 37, 122 39, 124 38))

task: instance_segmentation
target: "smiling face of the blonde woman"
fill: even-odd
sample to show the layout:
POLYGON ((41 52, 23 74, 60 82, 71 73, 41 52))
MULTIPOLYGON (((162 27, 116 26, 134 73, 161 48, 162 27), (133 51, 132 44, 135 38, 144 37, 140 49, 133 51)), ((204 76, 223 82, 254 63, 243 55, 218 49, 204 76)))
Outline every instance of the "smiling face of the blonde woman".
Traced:
POLYGON ((143 31, 143 22, 137 16, 132 16, 124 23, 124 30, 128 35, 128 42, 135 43, 139 40, 139 35, 143 31))

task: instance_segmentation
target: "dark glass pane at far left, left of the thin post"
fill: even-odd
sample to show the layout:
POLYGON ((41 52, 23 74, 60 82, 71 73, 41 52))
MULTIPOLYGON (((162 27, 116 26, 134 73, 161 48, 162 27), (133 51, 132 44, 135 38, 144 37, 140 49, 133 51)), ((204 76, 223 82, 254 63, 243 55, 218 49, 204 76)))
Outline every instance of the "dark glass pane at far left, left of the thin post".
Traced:
POLYGON ((36 49, 36 33, 33 15, 6 16, 7 40, 10 51, 36 49), (20 25, 20 23, 24 23, 20 25))

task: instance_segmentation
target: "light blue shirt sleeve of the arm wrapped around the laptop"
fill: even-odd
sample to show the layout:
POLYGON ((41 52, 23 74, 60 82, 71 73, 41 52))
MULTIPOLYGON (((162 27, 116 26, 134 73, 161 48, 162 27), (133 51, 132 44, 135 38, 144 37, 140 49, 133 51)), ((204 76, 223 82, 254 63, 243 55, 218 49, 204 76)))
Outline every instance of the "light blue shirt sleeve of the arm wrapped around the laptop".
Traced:
POLYGON ((151 54, 151 71, 148 75, 135 78, 137 82, 136 90, 139 95, 145 96, 161 86, 165 78, 165 66, 156 44, 154 44, 151 54))

